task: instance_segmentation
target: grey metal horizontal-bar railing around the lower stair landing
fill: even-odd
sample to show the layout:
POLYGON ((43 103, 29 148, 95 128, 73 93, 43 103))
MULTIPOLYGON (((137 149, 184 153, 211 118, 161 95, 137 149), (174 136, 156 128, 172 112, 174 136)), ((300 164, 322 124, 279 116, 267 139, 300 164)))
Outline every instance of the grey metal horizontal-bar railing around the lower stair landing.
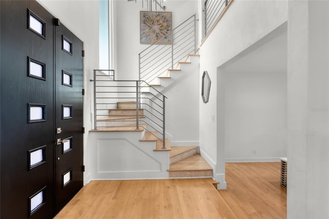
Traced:
POLYGON ((115 80, 114 70, 94 70, 94 79, 90 81, 94 82, 95 130, 122 126, 139 130, 142 126, 166 149, 166 96, 145 81, 115 80), (129 114, 116 112, 119 104, 129 114))

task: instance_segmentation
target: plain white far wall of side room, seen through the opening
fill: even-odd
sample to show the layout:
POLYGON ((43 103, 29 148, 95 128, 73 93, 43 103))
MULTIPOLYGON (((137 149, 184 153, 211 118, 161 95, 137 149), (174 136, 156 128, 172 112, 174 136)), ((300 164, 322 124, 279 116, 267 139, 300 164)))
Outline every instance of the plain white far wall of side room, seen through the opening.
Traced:
POLYGON ((226 72, 224 80, 226 161, 286 157, 286 72, 226 72))

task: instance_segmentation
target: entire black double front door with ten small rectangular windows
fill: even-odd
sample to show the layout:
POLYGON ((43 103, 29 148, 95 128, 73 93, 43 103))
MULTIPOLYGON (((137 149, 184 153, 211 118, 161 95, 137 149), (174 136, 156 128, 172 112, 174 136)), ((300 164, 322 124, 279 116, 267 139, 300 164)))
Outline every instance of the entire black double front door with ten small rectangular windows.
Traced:
POLYGON ((0 217, 52 218, 83 185, 82 42, 35 1, 0 11, 0 217))

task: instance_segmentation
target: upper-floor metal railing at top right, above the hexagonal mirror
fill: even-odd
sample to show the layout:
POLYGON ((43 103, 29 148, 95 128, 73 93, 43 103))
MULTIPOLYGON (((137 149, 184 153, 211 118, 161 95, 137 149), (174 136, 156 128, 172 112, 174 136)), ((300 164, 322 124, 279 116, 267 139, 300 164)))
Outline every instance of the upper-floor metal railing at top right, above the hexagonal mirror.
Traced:
POLYGON ((206 0, 205 2, 205 36, 216 24, 217 19, 228 5, 230 0, 206 0))

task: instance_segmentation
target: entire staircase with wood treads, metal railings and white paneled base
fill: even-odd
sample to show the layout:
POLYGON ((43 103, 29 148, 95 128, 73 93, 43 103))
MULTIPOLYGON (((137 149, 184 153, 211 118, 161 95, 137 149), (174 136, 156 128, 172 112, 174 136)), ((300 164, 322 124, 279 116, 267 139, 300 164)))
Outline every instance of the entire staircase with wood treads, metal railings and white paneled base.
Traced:
MULTIPOLYGON (((198 146, 177 146, 198 144, 194 138, 198 120, 191 119, 198 115, 189 114, 199 104, 197 21, 194 14, 174 28, 171 45, 154 43, 141 51, 137 81, 115 80, 114 70, 94 70, 94 80, 90 80, 94 81, 95 92, 92 132, 98 134, 90 141, 97 142, 91 151, 98 163, 92 167, 92 178, 213 176, 198 146), (126 99, 130 101, 123 101, 126 99), (167 104, 170 107, 165 108, 167 104), (177 104, 181 104, 180 110, 174 107, 177 104), (170 120, 169 128, 165 117, 170 120), (188 135, 186 129, 191 130, 188 135), (180 139, 174 139, 173 134, 180 139)), ((213 184, 216 187, 218 182, 213 184)))

